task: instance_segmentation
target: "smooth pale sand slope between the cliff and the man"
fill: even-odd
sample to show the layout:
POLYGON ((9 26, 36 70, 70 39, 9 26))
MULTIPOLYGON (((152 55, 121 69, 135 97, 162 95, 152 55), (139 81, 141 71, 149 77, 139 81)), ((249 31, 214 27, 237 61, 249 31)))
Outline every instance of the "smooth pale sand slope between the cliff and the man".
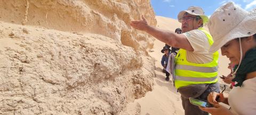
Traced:
MULTIPOLYGON (((167 29, 174 31, 180 27, 181 24, 174 19, 165 17, 156 17, 157 26, 161 29, 167 29)), ((165 81, 165 73, 162 72, 162 53, 161 50, 164 43, 159 40, 154 42, 154 52, 150 52, 149 55, 155 59, 155 72, 154 89, 152 92, 148 92, 145 97, 135 100, 134 103, 141 105, 141 114, 184 114, 180 94, 177 93, 177 89, 172 86, 171 81, 165 81)))

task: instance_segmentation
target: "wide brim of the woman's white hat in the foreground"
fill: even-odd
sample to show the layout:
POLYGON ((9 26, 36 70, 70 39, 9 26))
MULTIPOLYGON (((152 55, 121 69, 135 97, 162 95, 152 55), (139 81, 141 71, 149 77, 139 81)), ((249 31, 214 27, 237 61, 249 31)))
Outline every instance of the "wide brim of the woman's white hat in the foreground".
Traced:
MULTIPOLYGON (((210 47, 210 53, 218 51, 223 45, 235 38, 247 37, 256 34, 256 9, 249 12, 249 15, 244 18, 237 26, 230 30, 228 34, 220 38, 214 38, 212 46, 210 47)), ((214 36, 213 36, 214 37, 214 36)))

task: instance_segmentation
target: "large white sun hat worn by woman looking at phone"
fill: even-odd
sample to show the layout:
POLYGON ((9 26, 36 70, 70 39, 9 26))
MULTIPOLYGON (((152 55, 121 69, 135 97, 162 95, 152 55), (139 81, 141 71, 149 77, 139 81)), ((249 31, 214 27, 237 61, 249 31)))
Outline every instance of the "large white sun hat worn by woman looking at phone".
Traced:
POLYGON ((229 2, 211 15, 207 27, 214 41, 210 48, 213 53, 230 40, 256 34, 256 9, 247 12, 229 2))

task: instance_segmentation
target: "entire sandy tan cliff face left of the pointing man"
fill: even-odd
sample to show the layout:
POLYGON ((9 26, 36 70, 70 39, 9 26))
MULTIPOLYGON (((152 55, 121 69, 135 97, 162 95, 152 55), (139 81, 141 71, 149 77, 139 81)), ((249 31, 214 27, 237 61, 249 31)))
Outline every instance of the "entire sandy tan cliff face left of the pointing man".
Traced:
POLYGON ((140 114, 153 38, 131 29, 149 1, 0 1, 1 114, 140 114), (23 26, 21 25, 23 24, 23 26))

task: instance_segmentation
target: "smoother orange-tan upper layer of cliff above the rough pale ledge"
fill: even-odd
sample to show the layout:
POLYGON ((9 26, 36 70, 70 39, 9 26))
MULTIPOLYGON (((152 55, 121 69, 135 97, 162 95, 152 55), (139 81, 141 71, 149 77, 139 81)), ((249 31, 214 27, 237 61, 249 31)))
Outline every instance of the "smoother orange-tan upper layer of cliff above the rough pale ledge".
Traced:
POLYGON ((138 51, 153 47, 153 38, 138 36, 130 21, 145 15, 150 25, 156 25, 149 0, 3 0, 0 15, 2 21, 15 24, 100 34, 138 51))

